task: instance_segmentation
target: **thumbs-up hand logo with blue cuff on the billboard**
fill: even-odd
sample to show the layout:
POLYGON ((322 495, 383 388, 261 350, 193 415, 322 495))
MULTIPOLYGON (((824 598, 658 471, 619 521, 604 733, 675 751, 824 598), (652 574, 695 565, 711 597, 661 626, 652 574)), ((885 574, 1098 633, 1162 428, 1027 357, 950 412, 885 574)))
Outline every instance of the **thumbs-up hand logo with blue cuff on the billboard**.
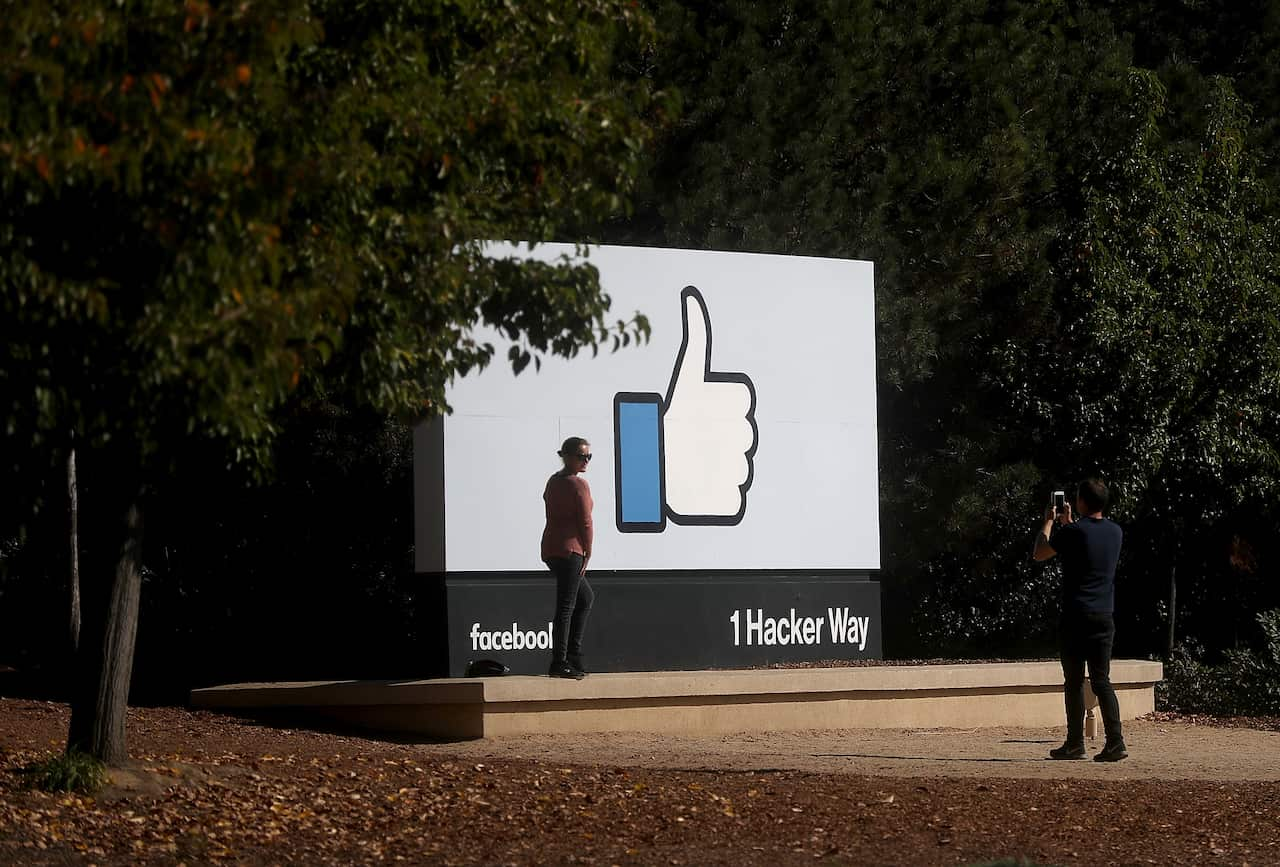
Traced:
POLYGON ((622 533, 733 525, 746 514, 758 442, 755 385, 712 369, 712 318, 701 292, 680 293, 685 334, 667 396, 613 396, 613 474, 622 533))

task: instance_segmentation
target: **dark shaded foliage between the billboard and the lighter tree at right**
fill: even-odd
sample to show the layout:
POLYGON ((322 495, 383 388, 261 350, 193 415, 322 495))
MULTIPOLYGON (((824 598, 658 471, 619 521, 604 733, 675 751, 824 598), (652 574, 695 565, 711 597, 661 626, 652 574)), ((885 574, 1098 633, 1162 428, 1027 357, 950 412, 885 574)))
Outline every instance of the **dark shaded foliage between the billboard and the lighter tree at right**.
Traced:
POLYGON ((1125 128, 1128 46, 1106 15, 1037 0, 663 3, 658 19, 652 74, 686 110, 637 231, 874 260, 886 634, 1018 633, 1044 604, 1042 574, 1012 563, 1047 467, 989 359, 1052 324, 1080 177, 1125 128))

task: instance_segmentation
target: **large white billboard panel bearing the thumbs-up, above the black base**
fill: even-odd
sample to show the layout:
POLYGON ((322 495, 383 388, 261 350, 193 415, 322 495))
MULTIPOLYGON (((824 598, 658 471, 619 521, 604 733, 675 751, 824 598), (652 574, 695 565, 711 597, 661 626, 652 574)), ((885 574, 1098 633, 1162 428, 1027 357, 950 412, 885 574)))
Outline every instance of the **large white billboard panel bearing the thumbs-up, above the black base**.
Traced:
POLYGON ((419 432, 419 571, 543 569, 543 487, 571 435, 594 455, 593 571, 879 569, 872 264, 586 254, 612 318, 644 312, 650 341, 517 377, 508 341, 477 330, 499 360, 457 380, 453 414, 419 432))

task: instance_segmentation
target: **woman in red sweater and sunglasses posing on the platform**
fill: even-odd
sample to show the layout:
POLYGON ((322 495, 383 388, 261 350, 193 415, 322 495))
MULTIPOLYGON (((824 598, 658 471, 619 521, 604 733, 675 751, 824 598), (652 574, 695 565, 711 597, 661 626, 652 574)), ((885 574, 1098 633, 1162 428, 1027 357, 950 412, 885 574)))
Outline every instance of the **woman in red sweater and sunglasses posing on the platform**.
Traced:
POLYGON ((556 615, 552 619, 552 677, 586 676, 582 665, 582 631, 595 594, 586 583, 591 560, 591 488, 581 476, 591 462, 591 444, 570 437, 559 450, 564 467, 547 480, 543 502, 543 562, 556 576, 556 615))

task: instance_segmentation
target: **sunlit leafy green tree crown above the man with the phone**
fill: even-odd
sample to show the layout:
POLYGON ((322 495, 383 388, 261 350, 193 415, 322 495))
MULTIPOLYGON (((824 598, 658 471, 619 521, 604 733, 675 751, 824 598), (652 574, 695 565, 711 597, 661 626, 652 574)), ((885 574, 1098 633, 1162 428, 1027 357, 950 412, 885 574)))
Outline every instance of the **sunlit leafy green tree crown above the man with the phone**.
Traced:
POLYGON ((1160 81, 1133 74, 1143 122, 1098 166, 1064 251, 1052 339, 1079 362, 1055 364, 1048 342, 1004 359, 1028 424, 1062 432, 1064 469, 1101 469, 1128 519, 1211 525, 1280 490, 1280 224, 1251 170, 1248 114, 1212 85, 1188 149, 1160 126, 1160 81), (1037 360, 1051 391, 1024 379, 1037 360))

